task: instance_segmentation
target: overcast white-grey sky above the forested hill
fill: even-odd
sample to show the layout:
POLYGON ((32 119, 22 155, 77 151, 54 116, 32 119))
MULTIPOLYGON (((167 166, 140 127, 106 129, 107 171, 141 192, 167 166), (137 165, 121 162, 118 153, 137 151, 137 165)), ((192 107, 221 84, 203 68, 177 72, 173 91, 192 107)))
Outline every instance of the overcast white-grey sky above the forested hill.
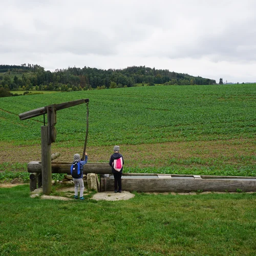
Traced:
POLYGON ((0 31, 0 64, 256 82, 255 0, 8 0, 0 31))

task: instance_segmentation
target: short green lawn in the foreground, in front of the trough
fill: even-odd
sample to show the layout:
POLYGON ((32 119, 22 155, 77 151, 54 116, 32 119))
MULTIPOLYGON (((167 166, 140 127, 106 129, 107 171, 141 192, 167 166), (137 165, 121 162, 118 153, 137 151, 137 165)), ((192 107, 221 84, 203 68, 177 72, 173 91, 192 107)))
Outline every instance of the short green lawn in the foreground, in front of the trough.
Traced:
POLYGON ((0 188, 1 255, 255 255, 256 194, 31 199, 0 188))

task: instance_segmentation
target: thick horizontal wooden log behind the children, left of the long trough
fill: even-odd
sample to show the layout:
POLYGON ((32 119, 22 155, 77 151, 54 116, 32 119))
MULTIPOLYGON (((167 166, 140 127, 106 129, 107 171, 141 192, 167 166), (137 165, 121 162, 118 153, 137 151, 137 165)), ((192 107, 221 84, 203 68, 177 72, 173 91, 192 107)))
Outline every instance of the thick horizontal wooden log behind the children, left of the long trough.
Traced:
MULTIPOLYGON (((71 174, 70 167, 72 163, 52 163, 52 173, 71 174)), ((41 173, 41 162, 32 161, 28 163, 29 173, 41 173)), ((109 163, 87 163, 83 166, 83 173, 112 174, 109 163)))

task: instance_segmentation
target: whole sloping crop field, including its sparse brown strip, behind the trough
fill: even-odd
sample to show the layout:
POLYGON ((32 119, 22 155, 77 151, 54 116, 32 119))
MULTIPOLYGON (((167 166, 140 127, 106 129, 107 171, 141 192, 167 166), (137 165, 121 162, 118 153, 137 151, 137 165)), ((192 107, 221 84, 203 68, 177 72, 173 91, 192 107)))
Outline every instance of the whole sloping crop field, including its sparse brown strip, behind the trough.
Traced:
MULTIPOLYGON (((39 152, 43 116, 18 114, 53 103, 89 98, 91 161, 108 161, 115 144, 126 172, 256 176, 256 84, 155 86, 79 91, 0 100, 3 152, 24 147, 19 161, 39 152), (29 152, 29 153, 28 153, 29 152)), ((82 152, 86 104, 57 112, 54 149, 65 160, 82 152), (64 154, 64 155, 63 155, 64 154)), ((33 155, 34 156, 34 155, 33 155)), ((70 158, 71 159, 71 158, 70 158)), ((33 160, 33 159, 30 159, 33 160)), ((30 161, 29 160, 29 161, 30 161)))

